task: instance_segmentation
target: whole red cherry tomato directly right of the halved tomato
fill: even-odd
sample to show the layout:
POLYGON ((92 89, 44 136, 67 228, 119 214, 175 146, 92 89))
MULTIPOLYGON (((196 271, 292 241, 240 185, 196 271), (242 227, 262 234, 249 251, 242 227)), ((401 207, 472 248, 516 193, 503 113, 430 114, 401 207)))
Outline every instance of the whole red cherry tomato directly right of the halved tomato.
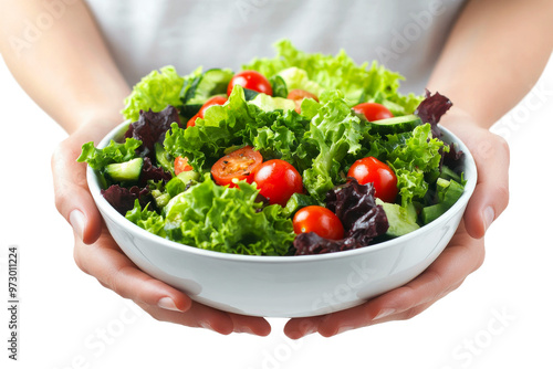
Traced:
POLYGON ((303 192, 302 176, 290 162, 281 159, 269 160, 259 166, 253 172, 253 181, 271 204, 284 207, 293 193, 303 192))

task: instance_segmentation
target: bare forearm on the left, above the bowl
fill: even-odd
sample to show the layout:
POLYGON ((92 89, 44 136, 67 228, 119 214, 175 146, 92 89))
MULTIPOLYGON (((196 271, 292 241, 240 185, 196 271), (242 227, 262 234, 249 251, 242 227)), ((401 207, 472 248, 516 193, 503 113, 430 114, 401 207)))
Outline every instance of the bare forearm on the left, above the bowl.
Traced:
POLYGON ((105 130, 121 120, 129 88, 88 9, 82 0, 66 2, 58 1, 63 8, 54 18, 43 1, 3 0, 0 52, 23 89, 67 133, 87 122, 105 130), (50 27, 39 24, 48 19, 50 27))

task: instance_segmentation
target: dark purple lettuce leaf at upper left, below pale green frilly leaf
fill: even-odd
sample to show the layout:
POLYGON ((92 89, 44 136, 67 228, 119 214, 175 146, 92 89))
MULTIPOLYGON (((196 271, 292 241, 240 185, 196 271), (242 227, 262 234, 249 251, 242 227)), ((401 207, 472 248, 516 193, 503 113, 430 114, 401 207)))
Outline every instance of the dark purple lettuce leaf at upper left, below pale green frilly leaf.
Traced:
POLYGON ((136 154, 155 160, 154 145, 164 143, 165 134, 174 122, 180 126, 178 110, 171 105, 168 105, 159 113, 152 112, 152 109, 148 112, 140 110, 140 117, 128 126, 125 138, 133 137, 140 140, 142 146, 136 149, 136 154))

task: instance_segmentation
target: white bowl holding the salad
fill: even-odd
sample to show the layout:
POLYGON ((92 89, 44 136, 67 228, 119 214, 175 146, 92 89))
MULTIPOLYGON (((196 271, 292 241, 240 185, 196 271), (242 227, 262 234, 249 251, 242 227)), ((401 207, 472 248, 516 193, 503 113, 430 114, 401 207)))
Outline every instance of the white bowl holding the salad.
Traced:
MULTIPOLYGON (((98 145, 121 139, 123 123, 98 145)), ((154 235, 126 220, 101 196, 94 170, 88 188, 123 252, 143 271, 185 292, 194 301, 237 314, 303 317, 359 305, 419 275, 453 235, 477 183, 467 147, 441 127, 442 139, 465 152, 468 180, 461 198, 434 222, 404 236, 372 246, 321 255, 252 256, 182 245, 154 235)))

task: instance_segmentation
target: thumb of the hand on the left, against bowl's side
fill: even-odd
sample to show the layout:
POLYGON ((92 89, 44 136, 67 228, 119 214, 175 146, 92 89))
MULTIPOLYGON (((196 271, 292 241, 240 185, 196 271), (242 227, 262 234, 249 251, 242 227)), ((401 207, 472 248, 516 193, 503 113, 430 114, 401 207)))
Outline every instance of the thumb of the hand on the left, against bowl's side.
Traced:
POLYGON ((52 155, 55 207, 84 243, 97 240, 102 217, 86 183, 86 165, 76 162, 81 146, 75 137, 60 144, 52 155))

